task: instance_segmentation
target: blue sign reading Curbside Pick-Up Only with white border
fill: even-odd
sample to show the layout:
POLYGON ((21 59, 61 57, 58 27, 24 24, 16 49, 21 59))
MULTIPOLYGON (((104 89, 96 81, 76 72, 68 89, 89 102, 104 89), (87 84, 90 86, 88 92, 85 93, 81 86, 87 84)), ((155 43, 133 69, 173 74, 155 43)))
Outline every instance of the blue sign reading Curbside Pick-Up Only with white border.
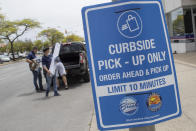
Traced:
POLYGON ((100 130, 157 124, 181 115, 160 0, 84 7, 85 40, 100 130))

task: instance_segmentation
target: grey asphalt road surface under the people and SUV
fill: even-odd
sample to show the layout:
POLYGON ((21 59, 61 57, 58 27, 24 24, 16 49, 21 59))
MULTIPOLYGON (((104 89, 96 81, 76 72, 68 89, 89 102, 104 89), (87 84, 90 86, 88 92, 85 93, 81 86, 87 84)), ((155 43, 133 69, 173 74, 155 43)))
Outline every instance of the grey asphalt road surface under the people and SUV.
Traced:
MULTIPOLYGON (((76 80, 61 96, 36 93, 25 62, 0 66, 0 131, 88 131, 93 113, 90 83, 76 80)), ((45 87, 45 79, 43 78, 45 87)))

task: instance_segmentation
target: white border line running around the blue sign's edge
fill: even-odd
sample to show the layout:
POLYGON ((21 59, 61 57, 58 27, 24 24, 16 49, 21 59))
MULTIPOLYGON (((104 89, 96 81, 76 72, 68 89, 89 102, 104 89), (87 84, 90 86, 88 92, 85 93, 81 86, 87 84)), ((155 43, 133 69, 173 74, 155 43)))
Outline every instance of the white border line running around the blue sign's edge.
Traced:
MULTIPOLYGON (((167 41, 168 52, 170 54, 169 56, 170 56, 170 63, 171 63, 171 67, 172 67, 172 75, 174 76, 174 69, 173 69, 174 66, 173 66, 173 62, 172 62, 172 58, 171 58, 171 51, 170 51, 169 40, 168 40, 168 36, 167 36, 167 31, 166 31, 166 24, 165 24, 165 21, 164 21, 164 18, 163 18, 163 12, 162 12, 162 9, 161 9, 161 5, 158 1, 130 1, 130 2, 117 3, 117 4, 113 4, 113 5, 105 5, 105 6, 101 6, 101 7, 89 8, 89 9, 85 10, 85 21, 86 21, 88 42, 89 42, 89 49, 90 49, 90 57, 91 57, 91 63, 92 63, 92 69, 93 69, 92 71, 93 71, 93 77, 94 77, 95 92, 96 92, 96 88, 97 88, 97 80, 96 80, 95 66, 94 66, 94 59, 93 59, 93 52, 92 52, 92 45, 91 45, 92 43, 91 43, 91 38, 90 38, 88 13, 90 11, 100 10, 100 9, 104 9, 104 8, 111 8, 111 7, 116 7, 116 6, 122 6, 122 5, 126 5, 126 4, 157 4, 159 6, 160 14, 161 14, 162 22, 163 22, 165 38, 166 38, 166 41, 167 41)), ((174 78, 175 78, 175 76, 174 76, 174 78)), ((135 123, 116 124, 116 125, 109 125, 109 126, 104 125, 103 121, 102 121, 102 116, 101 116, 101 108, 100 108, 99 98, 97 98, 97 107, 98 107, 98 112, 99 112, 99 120, 100 120, 100 124, 101 124, 102 128, 115 128, 115 127, 122 127, 122 126, 148 124, 148 123, 161 121, 161 120, 164 120, 164 119, 167 119, 167 118, 174 117, 174 116, 178 115, 180 110, 179 110, 179 101, 178 101, 176 82, 174 83, 174 88, 175 88, 176 103, 177 103, 177 112, 176 113, 165 116, 165 117, 161 117, 161 118, 155 119, 155 120, 135 122, 135 123)))

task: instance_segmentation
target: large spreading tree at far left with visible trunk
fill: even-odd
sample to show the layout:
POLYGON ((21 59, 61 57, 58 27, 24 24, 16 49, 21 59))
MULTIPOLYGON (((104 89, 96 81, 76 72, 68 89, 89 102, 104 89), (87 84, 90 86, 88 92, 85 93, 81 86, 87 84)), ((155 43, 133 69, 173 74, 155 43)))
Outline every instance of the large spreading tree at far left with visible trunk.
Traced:
POLYGON ((10 43, 14 60, 14 42, 27 31, 38 27, 40 27, 40 23, 31 19, 23 19, 20 21, 3 20, 3 22, 1 22, 0 39, 7 40, 10 43))

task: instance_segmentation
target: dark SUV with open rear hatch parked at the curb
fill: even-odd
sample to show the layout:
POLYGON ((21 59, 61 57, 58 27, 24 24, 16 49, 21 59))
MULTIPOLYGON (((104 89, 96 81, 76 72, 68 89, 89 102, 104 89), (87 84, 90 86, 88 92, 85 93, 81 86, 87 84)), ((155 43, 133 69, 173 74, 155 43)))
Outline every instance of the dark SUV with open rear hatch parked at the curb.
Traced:
POLYGON ((61 62, 67 71, 67 77, 80 76, 85 82, 90 81, 85 44, 72 42, 61 46, 61 62))

